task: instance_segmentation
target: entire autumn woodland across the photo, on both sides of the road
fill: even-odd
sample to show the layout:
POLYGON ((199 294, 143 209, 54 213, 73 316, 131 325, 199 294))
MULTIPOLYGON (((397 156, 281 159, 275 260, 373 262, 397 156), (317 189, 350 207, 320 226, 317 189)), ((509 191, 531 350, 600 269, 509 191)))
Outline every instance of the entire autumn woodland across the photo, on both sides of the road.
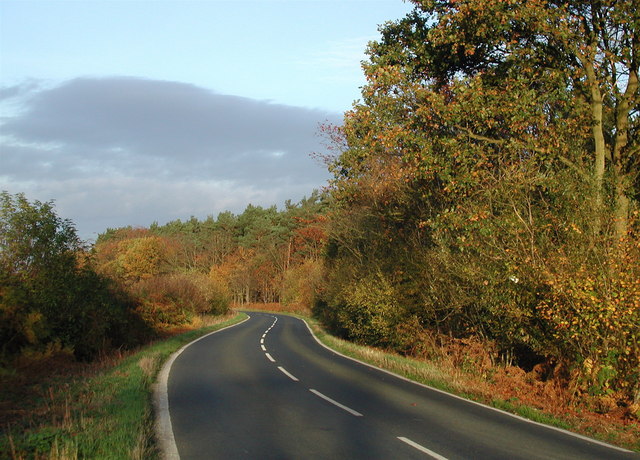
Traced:
POLYGON ((370 43, 344 125, 322 128, 322 193, 93 248, 51 204, 3 194, 3 357, 90 357, 282 302, 426 358, 473 338, 640 413, 640 5, 414 3, 370 43))

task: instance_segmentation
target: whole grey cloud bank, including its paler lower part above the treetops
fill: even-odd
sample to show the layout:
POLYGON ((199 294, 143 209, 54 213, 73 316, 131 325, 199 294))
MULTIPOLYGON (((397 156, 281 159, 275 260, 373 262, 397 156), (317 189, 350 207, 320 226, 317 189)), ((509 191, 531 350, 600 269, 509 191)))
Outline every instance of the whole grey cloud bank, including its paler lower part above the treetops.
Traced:
POLYGON ((309 156, 322 149, 318 124, 340 122, 128 77, 29 83, 3 96, 22 106, 0 125, 0 188, 55 199, 81 234, 299 199, 328 176, 309 156))

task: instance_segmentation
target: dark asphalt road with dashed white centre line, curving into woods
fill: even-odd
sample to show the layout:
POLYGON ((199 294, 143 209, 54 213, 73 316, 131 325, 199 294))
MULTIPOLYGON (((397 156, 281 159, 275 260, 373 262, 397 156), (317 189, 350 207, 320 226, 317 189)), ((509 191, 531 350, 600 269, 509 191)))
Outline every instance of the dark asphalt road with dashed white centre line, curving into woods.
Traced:
POLYGON ((341 357, 298 319, 249 315, 173 362, 182 459, 640 458, 341 357))

